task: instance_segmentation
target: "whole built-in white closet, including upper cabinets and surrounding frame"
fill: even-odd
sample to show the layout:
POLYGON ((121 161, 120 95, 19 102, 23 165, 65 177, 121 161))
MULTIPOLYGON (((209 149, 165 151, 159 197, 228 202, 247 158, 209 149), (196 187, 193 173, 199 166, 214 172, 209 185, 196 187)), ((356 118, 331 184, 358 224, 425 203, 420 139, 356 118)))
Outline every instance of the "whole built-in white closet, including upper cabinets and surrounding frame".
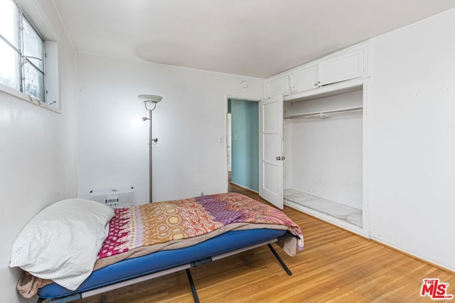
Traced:
MULTIPOLYGON (((269 79, 266 94, 282 96, 267 98, 282 100, 282 145, 277 157, 262 158, 261 177, 267 197, 267 165, 277 159, 277 199, 362 236, 368 236, 368 75, 368 45, 359 45, 269 79)), ((274 132, 263 133, 262 148, 270 149, 267 136, 274 132)))

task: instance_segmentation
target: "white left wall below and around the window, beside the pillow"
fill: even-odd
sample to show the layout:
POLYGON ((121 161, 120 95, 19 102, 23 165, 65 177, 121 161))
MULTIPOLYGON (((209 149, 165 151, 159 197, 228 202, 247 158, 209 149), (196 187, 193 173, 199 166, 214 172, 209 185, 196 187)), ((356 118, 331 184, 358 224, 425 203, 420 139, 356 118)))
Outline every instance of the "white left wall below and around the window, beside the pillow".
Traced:
MULTIPOLYGON (((28 1, 28 5, 32 2, 28 1)), ((59 48, 62 114, 0 92, 0 302, 36 302, 16 291, 20 270, 9 268, 11 246, 45 206, 76 197, 75 52, 50 0, 36 0, 59 48)), ((41 28, 40 28, 41 29, 41 28)), ((46 37, 48 38, 48 37, 46 37)))

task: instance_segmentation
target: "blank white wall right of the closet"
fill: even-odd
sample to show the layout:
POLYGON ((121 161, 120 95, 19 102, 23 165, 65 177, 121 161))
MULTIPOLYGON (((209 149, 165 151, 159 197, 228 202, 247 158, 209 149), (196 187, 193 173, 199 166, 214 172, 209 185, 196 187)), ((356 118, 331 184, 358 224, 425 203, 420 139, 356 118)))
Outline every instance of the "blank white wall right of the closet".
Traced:
POLYGON ((371 44, 370 234, 455 270, 455 9, 371 44))

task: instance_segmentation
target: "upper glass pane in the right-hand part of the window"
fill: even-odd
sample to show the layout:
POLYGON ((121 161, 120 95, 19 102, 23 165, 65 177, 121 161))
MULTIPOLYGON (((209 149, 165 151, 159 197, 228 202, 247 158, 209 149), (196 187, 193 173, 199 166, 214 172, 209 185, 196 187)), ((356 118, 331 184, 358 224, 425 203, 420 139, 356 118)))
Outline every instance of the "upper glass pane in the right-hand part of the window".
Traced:
POLYGON ((26 18, 23 18, 23 56, 44 71, 44 41, 26 18))

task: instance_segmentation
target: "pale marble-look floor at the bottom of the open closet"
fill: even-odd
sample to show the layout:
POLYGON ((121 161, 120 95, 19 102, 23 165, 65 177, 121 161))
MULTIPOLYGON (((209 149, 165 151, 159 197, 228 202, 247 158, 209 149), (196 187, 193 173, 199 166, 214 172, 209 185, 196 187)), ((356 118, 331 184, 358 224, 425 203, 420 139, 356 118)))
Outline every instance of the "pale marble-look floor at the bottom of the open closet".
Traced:
POLYGON ((300 192, 296 189, 284 189, 284 204, 286 204, 287 201, 303 206, 304 208, 306 207, 314 211, 319 211, 323 214, 333 216, 336 219, 347 221, 355 226, 362 227, 362 211, 360 209, 355 209, 344 204, 322 199, 320 197, 307 194, 306 192, 300 192))

